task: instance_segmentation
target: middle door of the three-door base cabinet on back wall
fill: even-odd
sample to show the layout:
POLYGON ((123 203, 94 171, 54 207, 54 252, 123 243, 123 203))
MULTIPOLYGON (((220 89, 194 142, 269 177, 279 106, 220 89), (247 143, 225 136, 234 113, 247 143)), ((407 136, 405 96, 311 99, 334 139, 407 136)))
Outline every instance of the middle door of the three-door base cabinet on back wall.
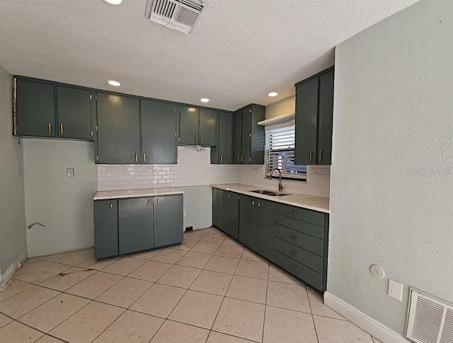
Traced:
POLYGON ((154 248, 152 198, 118 200, 118 240, 120 255, 154 248))

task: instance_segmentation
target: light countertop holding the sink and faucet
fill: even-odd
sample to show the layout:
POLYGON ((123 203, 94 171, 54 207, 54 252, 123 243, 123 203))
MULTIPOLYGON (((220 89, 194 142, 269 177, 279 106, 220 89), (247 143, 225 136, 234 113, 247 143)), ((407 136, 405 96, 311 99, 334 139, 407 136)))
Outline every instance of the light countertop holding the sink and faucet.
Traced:
MULTIPOLYGON (((331 213, 329 208, 330 199, 325 197, 316 197, 314 195, 288 192, 291 195, 284 195, 280 197, 271 197, 270 195, 253 193, 252 190, 270 190, 263 187, 241 185, 239 183, 224 184, 224 185, 212 185, 214 188, 220 190, 230 190, 240 194, 250 195, 251 197, 257 197, 260 199, 270 200, 273 202, 280 202, 282 204, 292 205, 296 207, 303 207, 304 209, 312 209, 323 213, 331 213)), ((270 190, 275 192, 275 190, 270 190)), ((285 192, 284 192, 285 193, 285 192)))

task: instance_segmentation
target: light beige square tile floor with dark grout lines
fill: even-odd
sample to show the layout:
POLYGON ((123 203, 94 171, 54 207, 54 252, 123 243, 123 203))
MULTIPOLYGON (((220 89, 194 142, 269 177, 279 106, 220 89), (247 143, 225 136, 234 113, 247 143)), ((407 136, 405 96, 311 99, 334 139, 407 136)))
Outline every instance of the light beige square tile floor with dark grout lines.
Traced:
POLYGON ((97 262, 28 260, 0 291, 2 343, 379 342, 215 228, 171 248, 97 262))

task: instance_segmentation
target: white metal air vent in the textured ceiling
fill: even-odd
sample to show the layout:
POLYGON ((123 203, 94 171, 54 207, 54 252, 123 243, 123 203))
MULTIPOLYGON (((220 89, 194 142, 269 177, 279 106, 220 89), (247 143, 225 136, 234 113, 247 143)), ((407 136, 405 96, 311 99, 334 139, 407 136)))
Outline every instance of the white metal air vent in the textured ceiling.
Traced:
POLYGON ((168 28, 191 33, 210 0, 148 0, 144 15, 168 28))

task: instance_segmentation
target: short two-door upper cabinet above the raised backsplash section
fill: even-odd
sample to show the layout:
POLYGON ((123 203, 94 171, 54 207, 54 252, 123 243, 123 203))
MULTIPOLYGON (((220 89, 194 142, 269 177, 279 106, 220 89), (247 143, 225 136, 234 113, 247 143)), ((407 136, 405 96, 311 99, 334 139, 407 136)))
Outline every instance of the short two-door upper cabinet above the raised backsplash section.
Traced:
POLYGON ((216 146, 217 111, 180 105, 179 144, 216 146))

